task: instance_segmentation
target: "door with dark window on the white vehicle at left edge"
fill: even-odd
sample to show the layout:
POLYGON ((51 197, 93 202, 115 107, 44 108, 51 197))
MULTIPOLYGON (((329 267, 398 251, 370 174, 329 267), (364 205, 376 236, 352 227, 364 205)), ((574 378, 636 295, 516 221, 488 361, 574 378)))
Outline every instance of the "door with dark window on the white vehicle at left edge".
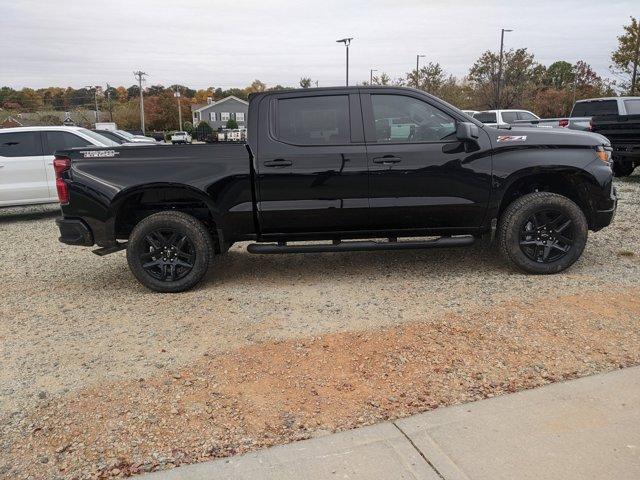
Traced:
POLYGON ((0 205, 49 199, 40 132, 0 132, 0 205))

